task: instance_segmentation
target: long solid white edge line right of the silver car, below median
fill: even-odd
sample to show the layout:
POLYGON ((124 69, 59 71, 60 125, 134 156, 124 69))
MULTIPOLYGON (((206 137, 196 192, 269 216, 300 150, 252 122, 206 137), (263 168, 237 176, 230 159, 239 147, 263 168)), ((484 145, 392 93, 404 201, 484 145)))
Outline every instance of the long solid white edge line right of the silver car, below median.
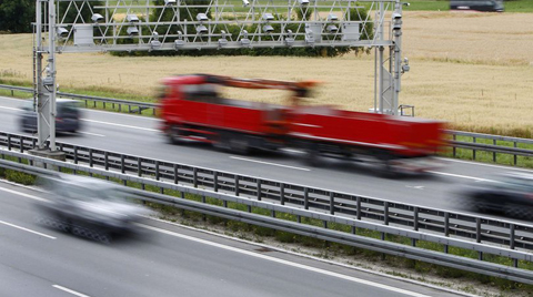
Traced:
POLYGON ((308 265, 292 263, 292 262, 289 262, 289 260, 279 259, 279 258, 274 258, 274 257, 271 257, 271 256, 265 256, 265 255, 261 255, 261 254, 258 254, 258 253, 253 253, 253 252, 250 252, 250 250, 244 250, 244 249, 240 249, 240 248, 235 248, 235 247, 231 247, 231 246, 227 246, 227 245, 222 245, 222 244, 212 243, 212 242, 209 242, 209 240, 205 240, 205 239, 200 239, 200 238, 195 238, 195 237, 192 237, 192 236, 188 236, 188 235, 183 235, 183 234, 179 234, 179 233, 174 233, 174 232, 170 232, 170 231, 165 231, 165 229, 161 229, 161 228, 157 228, 157 227, 152 227, 152 226, 148 226, 148 225, 143 225, 143 224, 138 224, 138 225, 141 226, 141 227, 144 227, 147 229, 151 229, 151 231, 154 231, 154 232, 168 234, 168 235, 180 237, 180 238, 183 238, 183 239, 197 242, 197 243, 204 244, 204 245, 214 246, 214 247, 218 247, 218 248, 244 254, 244 255, 248 255, 248 256, 252 256, 252 257, 257 257, 257 258, 261 258, 261 259, 265 259, 265 260, 270 260, 270 262, 275 262, 275 263, 279 263, 279 264, 301 268, 301 269, 309 270, 309 272, 314 272, 314 273, 322 274, 322 275, 328 275, 328 276, 332 276, 332 277, 336 277, 336 278, 342 278, 342 279, 345 279, 345 280, 349 280, 349 281, 359 283, 359 284, 366 285, 366 286, 372 286, 372 287, 376 287, 376 288, 381 288, 381 289, 385 289, 385 290, 392 290, 392 291, 396 291, 396 293, 409 295, 409 296, 428 297, 428 295, 423 295, 423 294, 419 294, 419 293, 414 293, 414 291, 410 291, 410 290, 404 290, 404 289, 399 289, 399 288, 394 288, 394 287, 391 287, 391 286, 379 284, 379 283, 374 283, 374 281, 370 281, 370 280, 365 280, 365 279, 361 279, 361 278, 356 278, 356 277, 352 277, 352 276, 346 276, 346 275, 342 275, 342 274, 338 274, 338 273, 333 273, 333 272, 328 272, 328 270, 311 267, 311 266, 308 266, 308 265))

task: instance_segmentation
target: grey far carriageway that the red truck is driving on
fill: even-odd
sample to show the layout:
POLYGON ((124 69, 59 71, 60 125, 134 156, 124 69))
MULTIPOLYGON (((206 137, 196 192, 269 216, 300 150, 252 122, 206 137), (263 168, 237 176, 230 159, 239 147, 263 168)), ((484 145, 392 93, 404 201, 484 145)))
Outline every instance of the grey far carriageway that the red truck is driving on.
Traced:
MULTIPOLYGON (((21 103, 0 98, 0 131, 22 133, 17 122, 21 103)), ((294 151, 242 156, 201 143, 171 145, 158 131, 157 119, 92 110, 84 110, 82 117, 81 133, 59 135, 58 141, 443 209, 462 211, 457 195, 462 185, 503 172, 524 171, 446 158, 444 166, 431 175, 391 180, 368 166, 339 160, 326 158, 320 167, 311 167, 294 151)))

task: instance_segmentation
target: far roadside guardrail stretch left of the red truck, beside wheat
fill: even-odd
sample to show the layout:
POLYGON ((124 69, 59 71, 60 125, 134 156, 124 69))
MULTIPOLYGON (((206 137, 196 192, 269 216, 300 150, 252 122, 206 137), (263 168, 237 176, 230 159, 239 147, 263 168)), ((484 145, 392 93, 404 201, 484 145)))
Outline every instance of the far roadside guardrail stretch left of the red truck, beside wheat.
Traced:
MULTIPOLYGON (((23 88, 23 86, 14 86, 14 85, 6 85, 0 84, 0 89, 11 91, 11 96, 14 96, 14 91, 24 92, 24 93, 33 93, 33 89, 31 88, 23 88)), ((139 113, 141 114, 144 110, 152 110, 152 115, 155 115, 155 110, 158 104, 149 103, 149 102, 139 102, 139 101, 129 101, 122 99, 111 99, 111 98, 101 98, 101 96, 89 96, 89 95, 79 95, 72 93, 63 93, 58 92, 58 96, 60 98, 68 98, 72 100, 80 100, 86 102, 86 107, 89 107, 90 102, 92 102, 92 107, 97 107, 97 103, 102 103, 102 107, 111 106, 113 110, 122 111, 122 105, 128 107, 129 113, 139 113)))

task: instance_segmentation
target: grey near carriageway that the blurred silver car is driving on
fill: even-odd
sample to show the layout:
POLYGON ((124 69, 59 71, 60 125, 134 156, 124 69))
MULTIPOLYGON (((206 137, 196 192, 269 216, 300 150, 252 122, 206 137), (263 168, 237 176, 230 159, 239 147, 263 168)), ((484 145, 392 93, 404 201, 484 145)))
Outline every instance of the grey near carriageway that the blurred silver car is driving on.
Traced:
POLYGON ((456 296, 158 221, 103 245, 33 224, 36 199, 0 182, 0 296, 456 296))

